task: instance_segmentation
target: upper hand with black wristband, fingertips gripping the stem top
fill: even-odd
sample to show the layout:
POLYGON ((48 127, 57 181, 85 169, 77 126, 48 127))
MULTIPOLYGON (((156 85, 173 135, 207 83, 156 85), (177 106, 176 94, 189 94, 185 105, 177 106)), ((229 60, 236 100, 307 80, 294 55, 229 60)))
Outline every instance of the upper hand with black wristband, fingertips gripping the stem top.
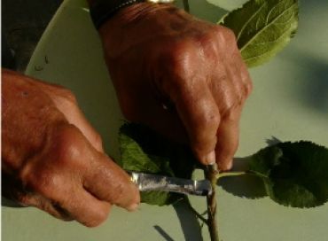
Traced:
POLYGON ((100 27, 122 113, 230 169, 252 83, 232 31, 168 4, 134 4, 100 27))

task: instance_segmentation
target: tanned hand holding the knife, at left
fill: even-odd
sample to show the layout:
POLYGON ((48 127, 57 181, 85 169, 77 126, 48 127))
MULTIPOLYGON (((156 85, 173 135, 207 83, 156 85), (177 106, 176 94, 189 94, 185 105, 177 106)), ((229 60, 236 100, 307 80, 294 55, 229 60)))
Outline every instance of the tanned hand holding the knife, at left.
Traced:
POLYGON ((112 205, 139 203, 129 175, 103 152, 74 95, 2 71, 3 194, 63 220, 104 222, 112 205))

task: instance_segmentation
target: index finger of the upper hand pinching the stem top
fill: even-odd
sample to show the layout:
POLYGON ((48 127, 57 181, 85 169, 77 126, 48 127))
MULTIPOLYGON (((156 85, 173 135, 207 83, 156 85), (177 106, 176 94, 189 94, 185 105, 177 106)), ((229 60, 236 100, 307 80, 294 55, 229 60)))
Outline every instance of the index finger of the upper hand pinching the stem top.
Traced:
POLYGON ((177 113, 187 130, 190 144, 199 161, 215 163, 216 132, 220 112, 206 80, 193 79, 176 88, 171 95, 177 113))

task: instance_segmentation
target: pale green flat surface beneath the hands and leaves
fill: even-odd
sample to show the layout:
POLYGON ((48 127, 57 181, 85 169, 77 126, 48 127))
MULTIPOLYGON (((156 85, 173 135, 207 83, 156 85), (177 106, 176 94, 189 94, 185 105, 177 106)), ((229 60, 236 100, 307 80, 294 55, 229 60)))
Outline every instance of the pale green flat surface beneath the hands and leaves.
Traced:
MULTIPOLYGON (((218 20, 225 12, 205 0, 190 2, 191 12, 200 18, 218 20)), ((242 1, 210 2, 231 9, 242 1)), ((268 64, 250 70, 254 92, 242 116, 236 157, 257 152, 272 136, 328 146, 328 2, 303 0, 300 5, 300 27, 292 43, 268 64)), ((118 159, 121 112, 86 7, 82 0, 67 0, 61 5, 27 74, 72 89, 83 112, 103 136, 106 152, 118 159)), ((237 168, 242 165, 237 158, 237 168)), ((245 177, 221 182, 218 215, 224 241, 327 240, 327 204, 310 209, 279 206, 262 198, 262 191, 261 185, 245 177)), ((191 203, 199 212, 206 209, 205 198, 192 197, 191 203)), ((3 207, 2 237, 8 241, 209 239, 207 228, 199 226, 183 203, 141 205, 135 213, 114 207, 110 218, 94 229, 61 222, 32 207, 3 207)))

